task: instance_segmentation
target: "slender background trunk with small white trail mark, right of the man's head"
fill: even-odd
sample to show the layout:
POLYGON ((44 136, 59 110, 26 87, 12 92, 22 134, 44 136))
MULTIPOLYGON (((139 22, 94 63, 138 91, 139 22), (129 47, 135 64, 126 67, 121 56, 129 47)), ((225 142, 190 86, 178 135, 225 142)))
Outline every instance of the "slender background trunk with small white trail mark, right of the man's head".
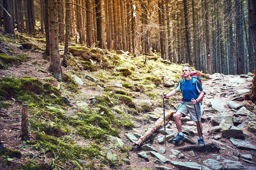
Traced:
POLYGON ((205 0, 205 45, 207 57, 207 73, 212 74, 212 56, 210 56, 210 32, 209 32, 209 7, 208 0, 205 0))

